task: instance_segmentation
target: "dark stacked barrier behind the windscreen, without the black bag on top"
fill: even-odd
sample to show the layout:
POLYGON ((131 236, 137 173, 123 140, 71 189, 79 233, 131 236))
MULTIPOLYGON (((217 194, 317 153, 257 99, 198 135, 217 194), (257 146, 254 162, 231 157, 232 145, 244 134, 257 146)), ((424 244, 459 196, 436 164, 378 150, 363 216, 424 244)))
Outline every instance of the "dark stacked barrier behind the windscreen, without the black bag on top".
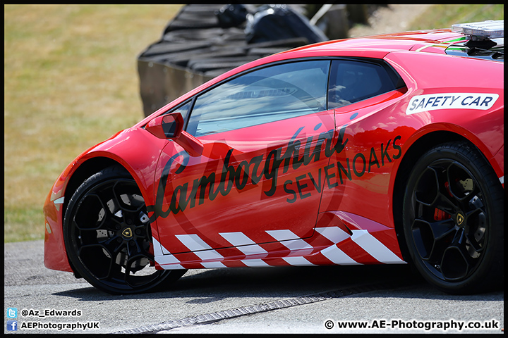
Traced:
MULTIPOLYGON (((299 11, 303 11, 300 7, 299 11)), ((238 65, 310 43, 308 38, 292 35, 248 44, 246 17, 255 11, 256 6, 248 5, 183 6, 164 28, 162 38, 138 56, 145 116, 238 65)), ((303 15, 295 14, 293 8, 284 11, 305 24, 303 15)))

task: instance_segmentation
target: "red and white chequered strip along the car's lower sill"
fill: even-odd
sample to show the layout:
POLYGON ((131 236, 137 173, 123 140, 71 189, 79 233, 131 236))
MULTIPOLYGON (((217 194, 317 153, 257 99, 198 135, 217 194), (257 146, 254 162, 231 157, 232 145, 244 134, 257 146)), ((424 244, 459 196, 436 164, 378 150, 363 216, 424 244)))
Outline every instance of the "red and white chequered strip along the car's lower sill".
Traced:
POLYGON ((220 235, 234 247, 217 250, 212 249, 198 234, 179 234, 176 238, 191 252, 176 254, 170 253, 153 238, 155 262, 167 270, 234 266, 406 263, 368 230, 351 230, 351 235, 339 227, 317 227, 315 231, 316 234, 312 239, 304 240, 294 239, 291 230, 269 230, 267 233, 279 242, 268 244, 255 244, 243 232, 222 232, 220 235), (265 245, 272 248, 278 245, 279 249, 267 250, 262 247, 265 245), (223 256, 217 252, 219 250, 229 250, 230 253, 234 250, 236 253, 223 256), (274 253, 270 256, 269 252, 274 253), (176 256, 179 256, 181 261, 176 256))

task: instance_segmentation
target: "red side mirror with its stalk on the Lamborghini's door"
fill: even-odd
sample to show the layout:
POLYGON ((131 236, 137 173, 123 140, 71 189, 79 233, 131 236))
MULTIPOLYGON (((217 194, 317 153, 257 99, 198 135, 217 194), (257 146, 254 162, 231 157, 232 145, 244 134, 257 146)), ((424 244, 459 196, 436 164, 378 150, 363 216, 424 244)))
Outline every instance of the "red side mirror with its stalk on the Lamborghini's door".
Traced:
POLYGON ((203 145, 200 140, 183 131, 181 113, 157 116, 157 118, 150 120, 145 126, 145 130, 159 137, 159 139, 172 139, 193 157, 202 154, 203 145))

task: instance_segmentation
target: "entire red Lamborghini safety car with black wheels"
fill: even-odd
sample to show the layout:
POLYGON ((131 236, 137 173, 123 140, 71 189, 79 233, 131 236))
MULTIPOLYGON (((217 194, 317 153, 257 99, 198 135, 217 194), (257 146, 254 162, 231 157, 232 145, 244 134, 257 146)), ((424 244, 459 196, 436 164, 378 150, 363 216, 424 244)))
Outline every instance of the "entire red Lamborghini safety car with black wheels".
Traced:
POLYGON ((111 294, 191 268, 411 263, 502 283, 503 22, 253 61, 78 156, 44 264, 111 294))

